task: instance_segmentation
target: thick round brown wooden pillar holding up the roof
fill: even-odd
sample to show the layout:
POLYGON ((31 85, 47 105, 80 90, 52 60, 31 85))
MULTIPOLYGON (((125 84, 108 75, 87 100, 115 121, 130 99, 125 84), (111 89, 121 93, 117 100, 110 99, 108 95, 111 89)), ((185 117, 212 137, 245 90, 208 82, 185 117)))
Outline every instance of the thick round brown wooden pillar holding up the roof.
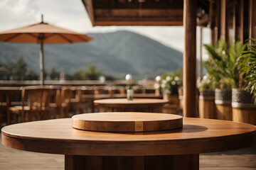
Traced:
POLYGON ((183 116, 191 118, 196 117, 196 7, 196 0, 184 0, 183 116))

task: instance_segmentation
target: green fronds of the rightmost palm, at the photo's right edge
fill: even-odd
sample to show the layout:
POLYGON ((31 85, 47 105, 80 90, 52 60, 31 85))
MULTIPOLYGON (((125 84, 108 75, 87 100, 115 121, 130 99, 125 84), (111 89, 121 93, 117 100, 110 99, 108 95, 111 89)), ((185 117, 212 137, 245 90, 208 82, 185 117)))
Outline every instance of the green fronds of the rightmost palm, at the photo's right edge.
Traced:
POLYGON ((247 48, 249 50, 243 52, 238 58, 239 69, 241 75, 245 77, 244 81, 247 82, 245 89, 253 95, 256 102, 256 45, 247 44, 247 48))

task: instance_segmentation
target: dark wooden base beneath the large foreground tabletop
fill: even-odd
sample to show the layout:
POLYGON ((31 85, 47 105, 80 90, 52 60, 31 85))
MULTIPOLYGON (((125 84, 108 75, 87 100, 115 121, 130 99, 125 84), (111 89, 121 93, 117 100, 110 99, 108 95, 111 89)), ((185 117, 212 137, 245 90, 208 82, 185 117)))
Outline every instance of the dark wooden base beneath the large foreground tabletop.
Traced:
POLYGON ((198 170, 199 154, 144 157, 88 157, 78 155, 65 155, 65 170, 84 169, 198 170))

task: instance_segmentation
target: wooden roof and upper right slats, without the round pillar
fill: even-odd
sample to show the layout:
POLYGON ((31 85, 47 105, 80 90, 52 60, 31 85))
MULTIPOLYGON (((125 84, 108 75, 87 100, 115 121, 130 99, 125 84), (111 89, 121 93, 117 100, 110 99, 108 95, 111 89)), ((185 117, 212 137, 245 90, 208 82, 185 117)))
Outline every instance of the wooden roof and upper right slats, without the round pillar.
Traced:
MULTIPOLYGON (((183 26, 183 1, 82 0, 82 3, 92 26, 183 26)), ((245 41, 256 36, 255 8, 253 0, 198 0, 196 23, 212 30, 212 44, 219 39, 245 41)))

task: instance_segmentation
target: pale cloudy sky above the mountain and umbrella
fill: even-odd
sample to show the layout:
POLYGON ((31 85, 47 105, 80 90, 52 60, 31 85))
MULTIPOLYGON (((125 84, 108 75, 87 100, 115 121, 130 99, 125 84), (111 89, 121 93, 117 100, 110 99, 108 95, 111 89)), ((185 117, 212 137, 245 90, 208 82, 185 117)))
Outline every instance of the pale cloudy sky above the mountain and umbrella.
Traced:
MULTIPOLYGON (((79 33, 105 33, 129 30, 157 40, 183 52, 182 26, 95 26, 81 0, 0 0, 0 31, 43 21, 79 33)), ((199 57, 199 28, 197 28, 197 57, 199 57)), ((203 29, 203 43, 210 43, 210 30, 203 29)), ((207 55, 203 51, 203 59, 207 55)))

